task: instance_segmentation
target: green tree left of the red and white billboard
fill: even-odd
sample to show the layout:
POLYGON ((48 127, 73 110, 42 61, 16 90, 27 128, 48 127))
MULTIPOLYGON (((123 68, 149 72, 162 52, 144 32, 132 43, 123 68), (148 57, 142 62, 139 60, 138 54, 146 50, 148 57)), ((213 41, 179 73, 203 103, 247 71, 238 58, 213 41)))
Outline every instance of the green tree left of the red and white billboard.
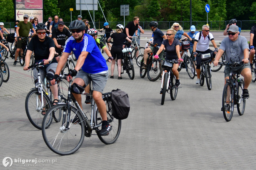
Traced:
POLYGON ((12 0, 1 0, 0 1, 1 8, 1 15, 0 21, 1 22, 10 22, 14 21, 14 4, 12 0))

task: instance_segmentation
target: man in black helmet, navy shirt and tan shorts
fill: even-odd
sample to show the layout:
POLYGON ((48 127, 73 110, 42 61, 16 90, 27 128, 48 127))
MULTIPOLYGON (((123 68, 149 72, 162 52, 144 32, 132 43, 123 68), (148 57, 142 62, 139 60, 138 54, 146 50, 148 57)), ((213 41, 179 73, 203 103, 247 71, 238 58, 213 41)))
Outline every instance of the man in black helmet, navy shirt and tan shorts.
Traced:
MULTIPOLYGON (((149 26, 151 31, 153 31, 153 34, 154 34, 154 44, 158 44, 158 46, 160 47, 162 42, 167 39, 166 35, 157 28, 158 23, 156 21, 151 21, 149 23, 149 26)), ((144 64, 142 68, 147 68, 147 58, 148 58, 147 53, 151 53, 152 51, 153 51, 152 46, 148 46, 148 48, 144 50, 144 56, 143 56, 144 64)), ((159 58, 163 59, 163 56, 164 56, 164 50, 159 54, 159 58)))

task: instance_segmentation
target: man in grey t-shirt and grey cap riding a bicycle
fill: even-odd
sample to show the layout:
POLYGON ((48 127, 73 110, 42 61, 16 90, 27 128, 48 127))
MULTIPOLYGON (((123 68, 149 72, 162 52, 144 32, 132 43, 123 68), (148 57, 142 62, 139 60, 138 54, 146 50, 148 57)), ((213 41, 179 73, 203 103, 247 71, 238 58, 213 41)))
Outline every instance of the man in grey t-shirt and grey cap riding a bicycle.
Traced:
POLYGON ((224 38, 221 42, 219 51, 215 57, 214 65, 217 66, 220 57, 225 52, 226 61, 229 63, 243 62, 244 64, 238 67, 232 67, 229 70, 225 67, 225 84, 226 79, 229 79, 229 73, 232 71, 236 74, 239 71, 244 77, 243 97, 249 98, 248 87, 252 79, 251 68, 249 65, 249 48, 245 37, 238 36, 239 28, 236 25, 231 25, 228 30, 228 37, 224 38))

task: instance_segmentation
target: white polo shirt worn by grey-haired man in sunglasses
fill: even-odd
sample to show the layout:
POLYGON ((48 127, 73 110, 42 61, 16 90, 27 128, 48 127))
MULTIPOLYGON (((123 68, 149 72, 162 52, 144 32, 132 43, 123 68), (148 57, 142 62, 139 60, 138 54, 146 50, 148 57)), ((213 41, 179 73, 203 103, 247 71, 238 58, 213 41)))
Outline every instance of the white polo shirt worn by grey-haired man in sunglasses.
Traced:
POLYGON ((197 45, 196 45, 196 50, 197 51, 206 51, 209 49, 209 43, 211 40, 214 40, 213 38, 213 35, 211 33, 209 33, 209 37, 210 39, 208 38, 208 35, 206 37, 204 37, 204 35, 202 34, 201 32, 201 38, 200 40, 198 41, 199 39, 199 35, 200 35, 200 32, 198 32, 196 34, 196 37, 195 37, 195 41, 197 42, 197 45))

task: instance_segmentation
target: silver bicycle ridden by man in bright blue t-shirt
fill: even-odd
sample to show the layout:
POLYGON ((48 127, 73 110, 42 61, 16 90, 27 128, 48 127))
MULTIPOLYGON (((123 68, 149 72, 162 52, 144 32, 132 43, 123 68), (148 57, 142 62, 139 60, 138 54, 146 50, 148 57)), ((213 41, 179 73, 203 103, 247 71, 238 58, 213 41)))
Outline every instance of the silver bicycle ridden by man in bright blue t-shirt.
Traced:
MULTIPOLYGON (((61 82, 64 79, 66 79, 66 76, 59 78, 58 81, 61 82)), ((111 125, 112 130, 108 135, 100 136, 99 127, 101 126, 102 118, 97 105, 91 98, 91 114, 89 112, 84 113, 71 93, 71 83, 70 81, 67 98, 60 95, 59 100, 62 99, 63 102, 51 107, 44 116, 42 136, 48 148, 59 155, 73 154, 81 147, 84 136, 91 137, 96 134, 103 143, 114 143, 121 131, 121 120, 115 119, 112 115, 111 92, 102 94, 102 98, 106 104, 108 123, 111 125), (76 107, 70 104, 71 101, 76 107), (51 115, 58 111, 63 113, 61 114, 61 121, 48 125, 51 115), (90 115, 87 116, 87 113, 90 115), (92 134, 93 130, 95 130, 96 134, 92 134)), ((92 96, 89 93, 86 93, 86 95, 92 96)))

